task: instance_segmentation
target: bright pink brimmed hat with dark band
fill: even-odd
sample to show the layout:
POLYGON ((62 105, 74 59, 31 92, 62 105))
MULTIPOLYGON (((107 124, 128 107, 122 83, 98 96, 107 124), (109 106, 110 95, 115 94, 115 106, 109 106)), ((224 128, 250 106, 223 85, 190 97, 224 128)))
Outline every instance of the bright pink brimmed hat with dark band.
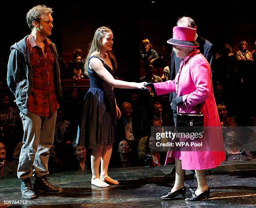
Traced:
POLYGON ((167 40, 167 43, 172 45, 180 45, 190 48, 197 48, 199 44, 195 41, 196 29, 187 27, 173 28, 173 38, 167 40))

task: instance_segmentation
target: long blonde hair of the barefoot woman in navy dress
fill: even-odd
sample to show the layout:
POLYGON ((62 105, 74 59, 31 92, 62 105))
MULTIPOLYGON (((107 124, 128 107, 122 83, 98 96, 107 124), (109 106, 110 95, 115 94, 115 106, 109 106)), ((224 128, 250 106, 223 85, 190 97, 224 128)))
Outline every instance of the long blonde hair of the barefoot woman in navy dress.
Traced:
MULTIPOLYGON (((112 33, 112 30, 110 30, 107 27, 100 27, 98 28, 95 33, 94 33, 94 37, 92 40, 92 43, 89 44, 89 50, 88 50, 88 55, 85 59, 85 63, 84 63, 84 74, 88 76, 88 71, 87 71, 87 64, 89 61, 90 56, 92 55, 92 53, 96 52, 96 56, 99 56, 102 54, 102 42, 101 39, 104 37, 104 35, 106 33, 112 33)), ((115 59, 115 55, 113 54, 112 50, 107 51, 108 56, 110 57, 110 59, 112 59, 115 63, 115 68, 117 67, 117 63, 116 63, 116 59, 115 59)))

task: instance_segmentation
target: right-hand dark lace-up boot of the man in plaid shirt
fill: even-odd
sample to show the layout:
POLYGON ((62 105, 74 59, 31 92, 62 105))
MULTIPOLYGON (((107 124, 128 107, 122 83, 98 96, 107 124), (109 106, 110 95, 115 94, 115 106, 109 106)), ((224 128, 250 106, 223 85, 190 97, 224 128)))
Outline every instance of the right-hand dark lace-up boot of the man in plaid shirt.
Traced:
POLYGON ((58 194, 63 191, 61 187, 52 185, 46 176, 36 178, 33 188, 35 191, 41 191, 49 194, 58 194))

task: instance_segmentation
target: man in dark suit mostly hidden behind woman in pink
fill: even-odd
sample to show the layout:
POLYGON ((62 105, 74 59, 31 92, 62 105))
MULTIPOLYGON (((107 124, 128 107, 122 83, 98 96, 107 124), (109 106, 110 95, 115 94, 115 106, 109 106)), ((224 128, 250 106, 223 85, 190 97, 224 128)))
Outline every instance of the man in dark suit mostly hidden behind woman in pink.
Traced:
MULTIPOLYGON (((179 27, 189 27, 189 28, 195 28, 197 29, 197 26, 195 25, 195 21, 190 17, 181 17, 177 21, 177 26, 179 27)), ((213 73, 213 68, 215 64, 215 53, 214 53, 214 46, 210 41, 206 40, 205 38, 202 38, 200 35, 196 33, 195 40, 199 43, 198 50, 200 50, 200 53, 205 56, 207 61, 210 63, 211 70, 213 73)), ((175 76, 177 75, 181 63, 181 58, 177 58, 176 53, 172 50, 172 62, 171 62, 171 75, 170 80, 174 80, 175 76)), ((174 116, 174 123, 176 123, 177 119, 177 105, 174 104, 174 99, 176 98, 176 92, 170 93, 170 101, 172 101, 172 110, 173 110, 173 116, 174 116)))

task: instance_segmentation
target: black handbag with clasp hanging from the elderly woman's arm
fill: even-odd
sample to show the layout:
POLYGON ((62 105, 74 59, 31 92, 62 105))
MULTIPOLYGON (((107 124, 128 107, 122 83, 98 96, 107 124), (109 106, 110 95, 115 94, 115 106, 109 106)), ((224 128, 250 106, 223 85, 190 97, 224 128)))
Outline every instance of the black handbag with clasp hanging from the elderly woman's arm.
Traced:
MULTIPOLYGON (((188 97, 188 95, 187 95, 188 97)), ((184 100, 185 101, 187 100, 184 100)), ((182 110, 184 108, 184 103, 182 104, 182 110)), ((204 126, 204 114, 203 113, 177 113, 176 126, 179 132, 203 132, 204 126)))

